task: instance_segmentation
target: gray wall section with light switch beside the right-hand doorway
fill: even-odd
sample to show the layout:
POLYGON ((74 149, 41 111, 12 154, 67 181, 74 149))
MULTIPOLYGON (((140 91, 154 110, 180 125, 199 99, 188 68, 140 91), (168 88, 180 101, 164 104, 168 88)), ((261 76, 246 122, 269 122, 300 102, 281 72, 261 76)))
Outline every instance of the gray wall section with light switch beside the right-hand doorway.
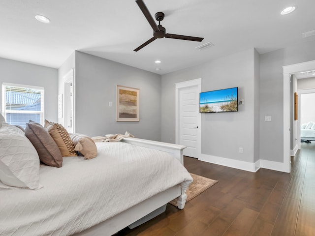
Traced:
POLYGON ((315 41, 260 55, 260 159, 283 162, 283 68, 315 59, 315 41), (272 116, 265 122, 264 116, 272 116))

